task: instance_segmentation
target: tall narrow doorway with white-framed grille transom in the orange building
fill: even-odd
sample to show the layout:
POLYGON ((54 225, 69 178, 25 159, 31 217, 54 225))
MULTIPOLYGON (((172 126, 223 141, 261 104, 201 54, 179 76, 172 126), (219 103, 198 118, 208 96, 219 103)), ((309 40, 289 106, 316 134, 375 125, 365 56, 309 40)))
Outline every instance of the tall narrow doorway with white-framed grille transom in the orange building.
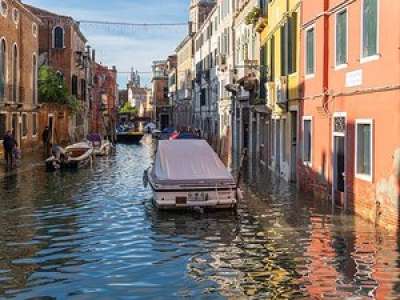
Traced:
POLYGON ((332 198, 336 206, 346 207, 346 117, 333 118, 333 184, 332 198))

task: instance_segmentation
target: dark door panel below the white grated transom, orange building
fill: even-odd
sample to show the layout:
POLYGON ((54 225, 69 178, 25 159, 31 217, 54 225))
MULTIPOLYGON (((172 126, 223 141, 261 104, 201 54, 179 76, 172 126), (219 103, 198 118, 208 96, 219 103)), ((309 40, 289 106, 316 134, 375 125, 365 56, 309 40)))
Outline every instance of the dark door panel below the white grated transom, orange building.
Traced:
POLYGON ((335 204, 344 206, 345 192, 345 147, 344 136, 334 137, 334 197, 335 204))

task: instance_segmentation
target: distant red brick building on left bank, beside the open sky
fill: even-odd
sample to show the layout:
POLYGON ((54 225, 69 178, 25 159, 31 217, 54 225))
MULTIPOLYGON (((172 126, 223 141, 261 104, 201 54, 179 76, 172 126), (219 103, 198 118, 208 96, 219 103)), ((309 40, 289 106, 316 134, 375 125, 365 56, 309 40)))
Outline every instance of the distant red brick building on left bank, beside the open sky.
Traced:
POLYGON ((110 136, 117 122, 117 69, 94 64, 94 79, 90 103, 90 131, 110 136))

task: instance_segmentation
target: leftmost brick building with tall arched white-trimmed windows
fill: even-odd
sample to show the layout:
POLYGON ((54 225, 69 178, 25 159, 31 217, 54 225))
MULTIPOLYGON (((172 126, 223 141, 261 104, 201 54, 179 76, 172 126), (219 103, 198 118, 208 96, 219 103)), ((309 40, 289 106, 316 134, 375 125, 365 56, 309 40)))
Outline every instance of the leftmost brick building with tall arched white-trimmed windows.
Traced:
POLYGON ((23 151, 32 150, 40 142, 37 98, 40 24, 40 19, 20 1, 0 1, 0 139, 6 130, 13 129, 23 151))

